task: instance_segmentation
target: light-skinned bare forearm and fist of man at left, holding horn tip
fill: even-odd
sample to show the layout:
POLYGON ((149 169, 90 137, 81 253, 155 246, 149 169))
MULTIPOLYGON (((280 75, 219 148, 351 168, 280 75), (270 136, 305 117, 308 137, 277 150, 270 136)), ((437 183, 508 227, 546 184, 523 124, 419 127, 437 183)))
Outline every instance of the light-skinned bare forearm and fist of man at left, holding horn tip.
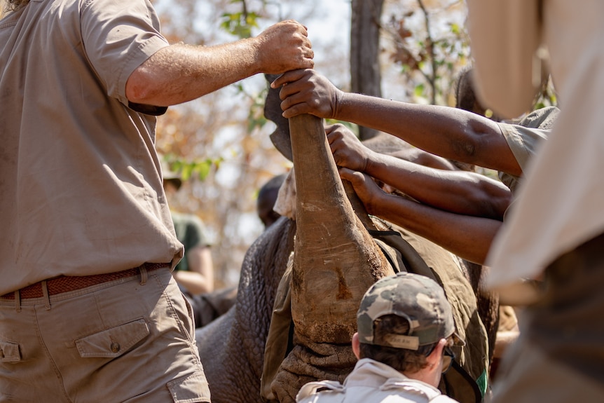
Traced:
POLYGON ((255 38, 224 45, 162 48, 132 72, 126 97, 133 103, 166 107, 257 73, 312 68, 312 59, 306 27, 280 22, 255 38))

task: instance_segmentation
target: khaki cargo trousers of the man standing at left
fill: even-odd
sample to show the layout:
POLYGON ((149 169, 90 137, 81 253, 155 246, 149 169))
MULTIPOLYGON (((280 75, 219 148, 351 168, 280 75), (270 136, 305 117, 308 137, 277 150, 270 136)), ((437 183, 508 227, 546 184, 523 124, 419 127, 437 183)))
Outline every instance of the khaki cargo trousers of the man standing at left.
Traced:
POLYGON ((194 334, 168 268, 0 299, 0 402, 210 402, 194 334))

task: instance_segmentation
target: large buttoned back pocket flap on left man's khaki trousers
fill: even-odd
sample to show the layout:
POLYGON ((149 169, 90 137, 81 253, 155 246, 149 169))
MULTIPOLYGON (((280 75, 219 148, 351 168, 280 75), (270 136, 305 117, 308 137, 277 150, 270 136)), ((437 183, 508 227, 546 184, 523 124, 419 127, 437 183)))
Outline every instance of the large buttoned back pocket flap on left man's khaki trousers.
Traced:
POLYGON ((149 336, 143 318, 76 340, 81 357, 118 357, 149 336))

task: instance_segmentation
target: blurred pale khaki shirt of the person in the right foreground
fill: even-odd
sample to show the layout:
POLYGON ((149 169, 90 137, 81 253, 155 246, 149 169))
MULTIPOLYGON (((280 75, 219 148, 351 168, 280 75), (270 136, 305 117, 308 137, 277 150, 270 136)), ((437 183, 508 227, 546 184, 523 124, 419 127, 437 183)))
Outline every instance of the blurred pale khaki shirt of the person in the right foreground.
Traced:
MULTIPOLYGON (((475 67, 481 70, 478 85, 493 90, 494 83, 501 82, 514 94, 523 92, 514 87, 526 86, 526 80, 501 81, 499 73, 532 68, 530 52, 528 57, 518 57, 514 41, 521 38, 517 28, 529 25, 532 36, 521 40, 528 48, 535 41, 547 46, 562 104, 551 135, 524 172, 518 203, 487 259, 493 268, 488 285, 500 293, 513 292, 519 279, 538 278, 557 257, 604 231, 604 2, 469 0, 467 4, 475 67), (533 10, 535 4, 542 4, 540 20, 533 10), (502 30, 493 32, 497 27, 502 30), (488 60, 509 62, 497 67, 488 60)), ((490 107, 511 99, 505 91, 500 96, 496 91, 486 92, 493 95, 490 107)), ((532 99, 532 92, 523 96, 532 99)))

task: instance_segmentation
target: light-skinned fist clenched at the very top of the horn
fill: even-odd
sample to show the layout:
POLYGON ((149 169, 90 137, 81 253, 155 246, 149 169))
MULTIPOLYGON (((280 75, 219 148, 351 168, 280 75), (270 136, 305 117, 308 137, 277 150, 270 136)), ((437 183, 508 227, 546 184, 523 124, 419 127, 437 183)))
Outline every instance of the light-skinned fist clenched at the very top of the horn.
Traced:
POLYGON ((281 74, 295 69, 312 69, 315 65, 315 53, 306 27, 297 21, 271 25, 254 41, 257 43, 256 57, 262 73, 281 74))

